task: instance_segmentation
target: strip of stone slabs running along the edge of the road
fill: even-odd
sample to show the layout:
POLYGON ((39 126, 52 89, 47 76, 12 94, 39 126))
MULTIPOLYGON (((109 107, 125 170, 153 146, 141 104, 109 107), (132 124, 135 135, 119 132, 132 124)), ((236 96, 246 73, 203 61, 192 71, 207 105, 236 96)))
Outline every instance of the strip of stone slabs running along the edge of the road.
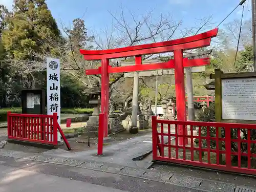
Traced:
MULTIPOLYGON (((236 184, 224 183, 220 181, 207 180, 197 177, 184 176, 171 172, 159 171, 155 170, 154 168, 135 168, 129 166, 122 166, 115 163, 99 163, 95 161, 88 161, 75 158, 56 157, 53 156, 52 154, 45 155, 44 153, 29 154, 17 151, 0 150, 0 157, 12 157, 16 159, 25 159, 30 161, 44 162, 56 165, 66 165, 69 167, 83 168, 88 170, 97 170, 104 173, 111 173, 122 176, 135 177, 138 179, 144 179, 144 182, 158 181, 162 182, 163 184, 165 183, 187 187, 187 190, 185 191, 192 191, 192 189, 195 189, 199 191, 233 192, 236 187, 243 187, 236 186, 236 184)), ((79 173, 80 172, 81 171, 79 171, 79 173)))

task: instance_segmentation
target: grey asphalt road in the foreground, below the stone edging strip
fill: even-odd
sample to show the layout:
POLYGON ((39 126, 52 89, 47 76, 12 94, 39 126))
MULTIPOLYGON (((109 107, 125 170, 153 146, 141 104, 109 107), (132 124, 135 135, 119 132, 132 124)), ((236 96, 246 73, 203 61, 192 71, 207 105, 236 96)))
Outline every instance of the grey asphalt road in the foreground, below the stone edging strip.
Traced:
MULTIPOLYGON (((0 192, 200 192, 193 185, 157 181, 131 172, 110 173, 96 169, 0 156, 0 192)), ((125 169, 124 169, 125 170, 125 169)), ((138 174, 138 173, 137 173, 138 174)), ((168 177, 166 178, 168 180, 168 177)), ((191 184, 188 183, 188 184, 191 184)), ((231 191, 230 191, 231 192, 231 191)))

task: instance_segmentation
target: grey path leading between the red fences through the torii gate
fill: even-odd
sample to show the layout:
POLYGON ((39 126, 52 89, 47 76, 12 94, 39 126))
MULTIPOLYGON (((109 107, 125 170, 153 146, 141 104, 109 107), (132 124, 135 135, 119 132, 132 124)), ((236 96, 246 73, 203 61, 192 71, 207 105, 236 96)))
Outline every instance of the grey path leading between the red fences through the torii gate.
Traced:
MULTIPOLYGON (((167 142, 167 139, 168 137, 165 137, 164 142, 167 142)), ((97 150, 72 153, 58 149, 44 152, 43 154, 54 157, 76 158, 99 163, 115 163, 122 166, 147 168, 152 164, 151 161, 133 161, 133 158, 143 156, 151 152, 152 136, 151 134, 148 134, 127 139, 109 146, 104 146, 102 156, 97 156, 97 150)))

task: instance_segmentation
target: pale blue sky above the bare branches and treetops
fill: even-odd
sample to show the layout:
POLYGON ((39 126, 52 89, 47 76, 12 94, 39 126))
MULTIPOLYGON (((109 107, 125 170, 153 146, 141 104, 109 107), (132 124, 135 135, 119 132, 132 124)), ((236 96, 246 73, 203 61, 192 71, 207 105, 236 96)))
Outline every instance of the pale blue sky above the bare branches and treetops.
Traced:
MULTIPOLYGON (((48 7, 59 25, 62 23, 70 26, 74 18, 83 17, 89 30, 110 26, 112 16, 109 11, 118 15, 121 6, 137 16, 151 10, 154 10, 155 16, 170 13, 173 19, 183 20, 183 27, 193 26, 196 18, 209 15, 213 15, 212 22, 218 24, 239 2, 240 0, 47 0, 48 7)), ((0 3, 10 9, 12 0, 0 0, 0 3)), ((245 19, 251 19, 250 9, 251 1, 247 0, 245 19)), ((241 10, 242 6, 225 23, 234 18, 240 19, 241 10)))

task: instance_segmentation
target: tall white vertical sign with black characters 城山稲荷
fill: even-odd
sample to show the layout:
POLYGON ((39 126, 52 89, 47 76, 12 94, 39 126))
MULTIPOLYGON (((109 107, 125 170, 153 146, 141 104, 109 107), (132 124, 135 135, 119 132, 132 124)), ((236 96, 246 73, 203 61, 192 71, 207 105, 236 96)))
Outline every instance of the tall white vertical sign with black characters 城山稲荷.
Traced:
POLYGON ((60 125, 60 62, 57 58, 47 58, 47 114, 53 113, 58 114, 60 125))

